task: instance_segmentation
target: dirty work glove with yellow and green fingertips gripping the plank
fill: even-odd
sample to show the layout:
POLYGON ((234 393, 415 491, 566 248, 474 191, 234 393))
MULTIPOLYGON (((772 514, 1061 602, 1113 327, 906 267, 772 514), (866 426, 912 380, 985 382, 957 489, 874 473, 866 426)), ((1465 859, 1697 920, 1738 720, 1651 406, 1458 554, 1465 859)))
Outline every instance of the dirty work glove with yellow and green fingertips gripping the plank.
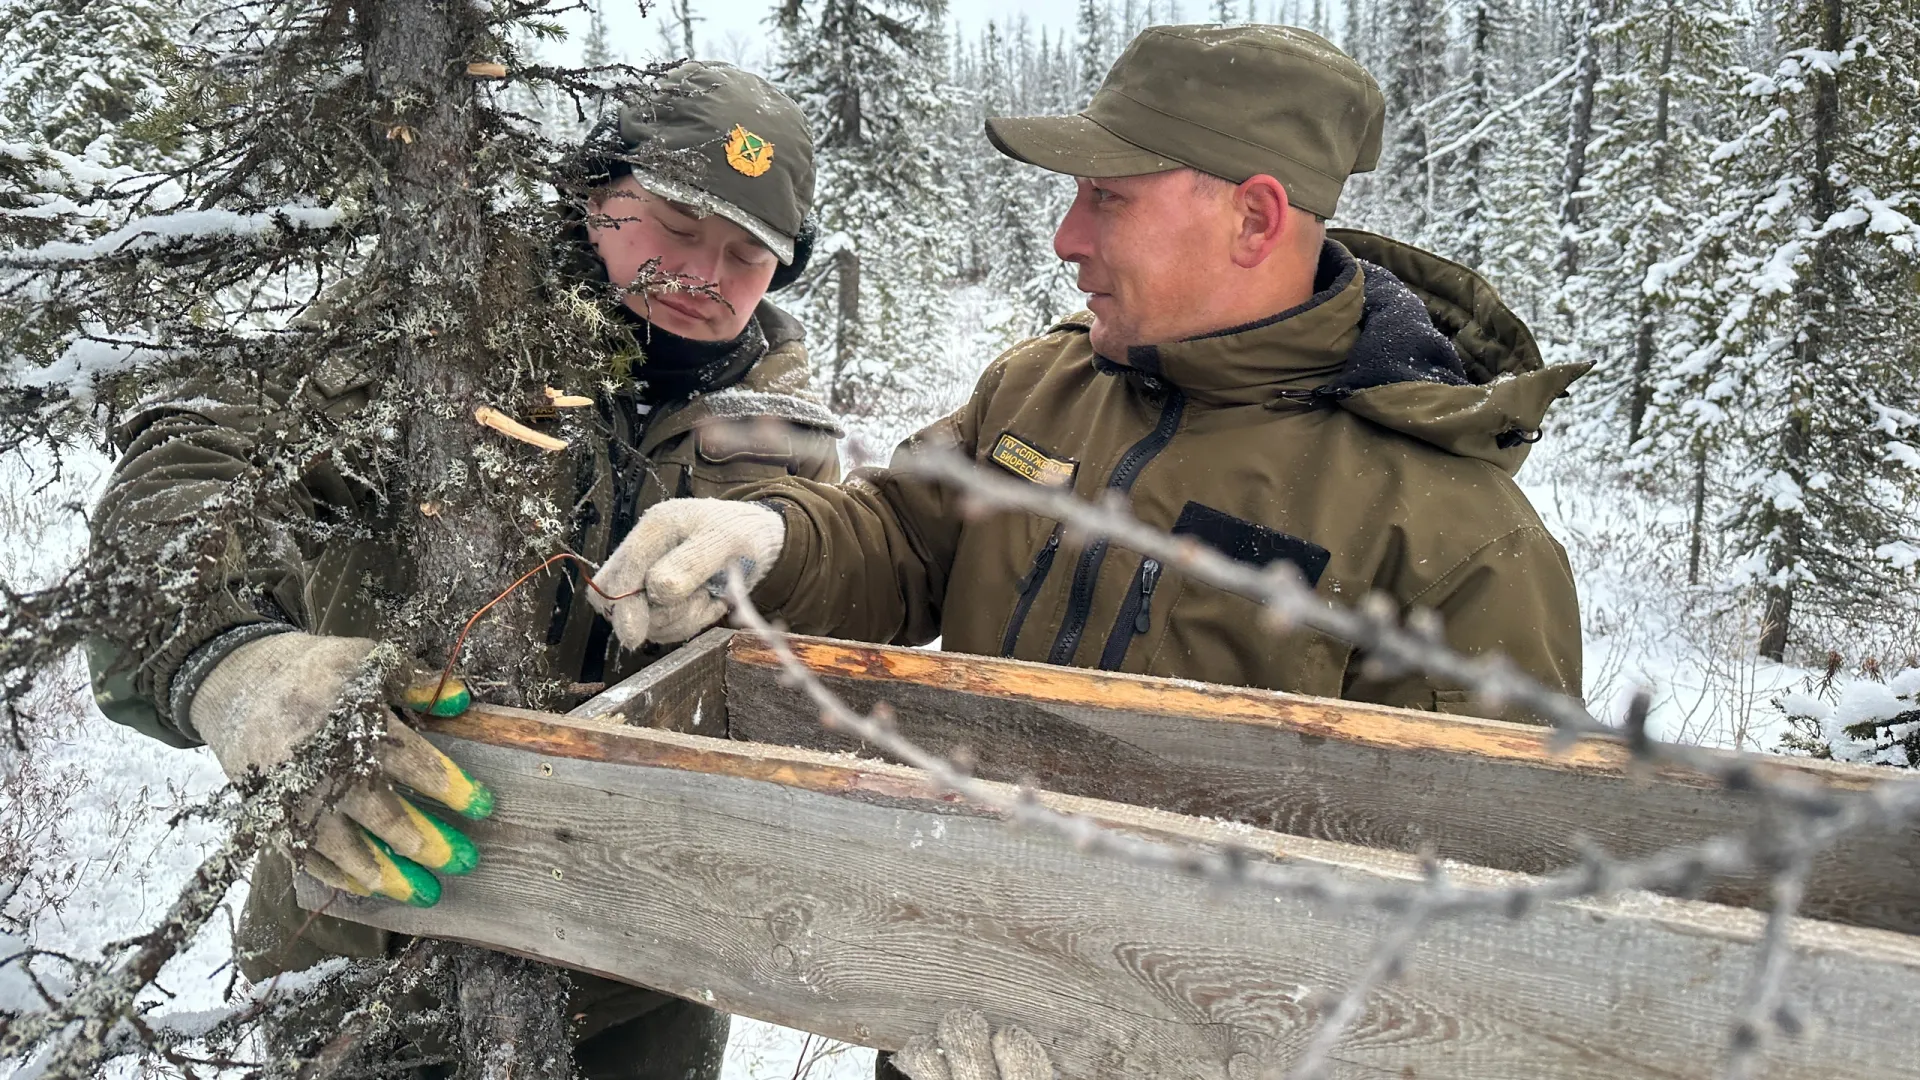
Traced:
MULTIPOLYGON (((213 665, 186 719, 228 778, 238 780, 250 769, 269 771, 326 723, 340 690, 372 650, 369 638, 296 632, 248 642, 213 665)), ((434 682, 426 682, 405 698, 409 707, 457 715, 467 707, 467 690, 447 686, 455 688, 457 694, 444 690, 438 701, 428 701, 434 682)), ((340 792, 332 809, 315 821, 303 865, 334 888, 430 907, 440 901, 440 882, 428 871, 465 874, 480 855, 472 840, 428 817, 394 784, 470 819, 490 815, 493 796, 397 715, 388 715, 376 761, 372 776, 340 792)), ((334 790, 323 780, 313 805, 334 790)))

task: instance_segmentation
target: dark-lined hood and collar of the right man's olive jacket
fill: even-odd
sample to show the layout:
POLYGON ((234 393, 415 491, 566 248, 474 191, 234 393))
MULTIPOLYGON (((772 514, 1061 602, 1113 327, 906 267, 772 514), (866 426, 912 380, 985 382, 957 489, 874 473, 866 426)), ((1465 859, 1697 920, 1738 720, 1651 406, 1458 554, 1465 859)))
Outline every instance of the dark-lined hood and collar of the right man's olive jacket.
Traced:
POLYGON ((1592 367, 1546 367, 1486 279, 1411 244, 1332 229, 1315 281, 1306 304, 1269 319, 1096 363, 1200 404, 1338 405, 1509 473, 1540 438, 1548 405, 1592 367))

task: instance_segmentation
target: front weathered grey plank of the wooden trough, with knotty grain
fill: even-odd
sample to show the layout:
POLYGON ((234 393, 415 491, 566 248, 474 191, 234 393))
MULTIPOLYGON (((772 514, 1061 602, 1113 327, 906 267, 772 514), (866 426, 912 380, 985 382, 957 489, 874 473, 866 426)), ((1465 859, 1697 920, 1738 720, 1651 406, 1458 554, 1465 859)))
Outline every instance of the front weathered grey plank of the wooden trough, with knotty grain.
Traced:
MULTIPOLYGON (((1087 855, 885 763, 509 709, 428 721, 499 796, 436 909, 332 899, 392 930, 505 947, 722 1009, 899 1047, 954 1003, 1018 1020, 1075 1078, 1246 1080, 1296 1053, 1380 917, 1087 855)), ((1415 859, 1071 796, 1144 836, 1413 878, 1415 859)), ((1492 882, 1511 874, 1457 869, 1492 882)), ((303 899, 323 899, 305 882, 303 899)), ((1636 894, 1436 924, 1334 1076, 1716 1074, 1751 911, 1636 894)), ((1805 1034, 1772 1080, 1920 1076, 1920 944, 1797 932, 1805 1034)))

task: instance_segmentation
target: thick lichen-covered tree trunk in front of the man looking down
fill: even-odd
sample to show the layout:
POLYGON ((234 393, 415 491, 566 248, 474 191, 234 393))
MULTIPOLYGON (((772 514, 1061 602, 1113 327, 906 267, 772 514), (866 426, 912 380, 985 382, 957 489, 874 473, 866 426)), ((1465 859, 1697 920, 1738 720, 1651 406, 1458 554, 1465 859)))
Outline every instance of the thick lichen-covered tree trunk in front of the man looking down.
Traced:
MULTIPOLYGON (((405 473, 394 515, 411 578, 394 582, 405 600, 388 632, 432 667, 445 661, 467 617, 528 561, 505 484, 540 484, 541 469, 553 469, 472 419, 484 404, 513 407, 497 386, 503 365, 486 338, 488 311, 528 300, 490 288, 493 236, 474 177, 480 111, 467 75, 470 60, 486 58, 482 17, 465 0, 363 0, 357 8, 376 144, 388 150, 384 183, 371 192, 380 246, 367 273, 382 286, 380 315, 397 329, 384 392, 405 404, 405 473), (503 452, 528 461, 507 479, 488 479, 478 457, 503 452)), ((518 703, 518 688, 540 663, 528 638, 530 596, 495 607, 461 657, 465 671, 486 678, 490 700, 518 703)), ((463 1076, 572 1074, 559 969, 442 947, 453 953, 461 984, 463 1076)))

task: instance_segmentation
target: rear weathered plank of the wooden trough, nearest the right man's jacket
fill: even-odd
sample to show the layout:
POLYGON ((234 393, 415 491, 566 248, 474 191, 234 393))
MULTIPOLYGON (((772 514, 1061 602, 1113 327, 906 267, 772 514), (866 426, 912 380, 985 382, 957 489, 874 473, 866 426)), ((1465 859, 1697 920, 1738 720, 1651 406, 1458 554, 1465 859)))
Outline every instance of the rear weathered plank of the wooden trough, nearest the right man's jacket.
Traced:
MULTIPOLYGON (((964 749, 975 773, 1363 847, 1519 872, 1578 861, 1582 838, 1619 855, 1747 826, 1751 799, 1690 773, 1636 769, 1611 742, 1549 753, 1542 728, 1167 678, 924 650, 795 638, 849 703, 893 707, 902 734, 964 749)), ((874 755, 828 732, 753 636, 728 650, 733 738, 874 755)), ((1780 759, 1776 773, 1836 788, 1887 776, 1780 759)), ((1920 832, 1860 832, 1822 855, 1809 915, 1920 932, 1920 832)), ((1707 899, 1764 905, 1759 878, 1707 899)))

